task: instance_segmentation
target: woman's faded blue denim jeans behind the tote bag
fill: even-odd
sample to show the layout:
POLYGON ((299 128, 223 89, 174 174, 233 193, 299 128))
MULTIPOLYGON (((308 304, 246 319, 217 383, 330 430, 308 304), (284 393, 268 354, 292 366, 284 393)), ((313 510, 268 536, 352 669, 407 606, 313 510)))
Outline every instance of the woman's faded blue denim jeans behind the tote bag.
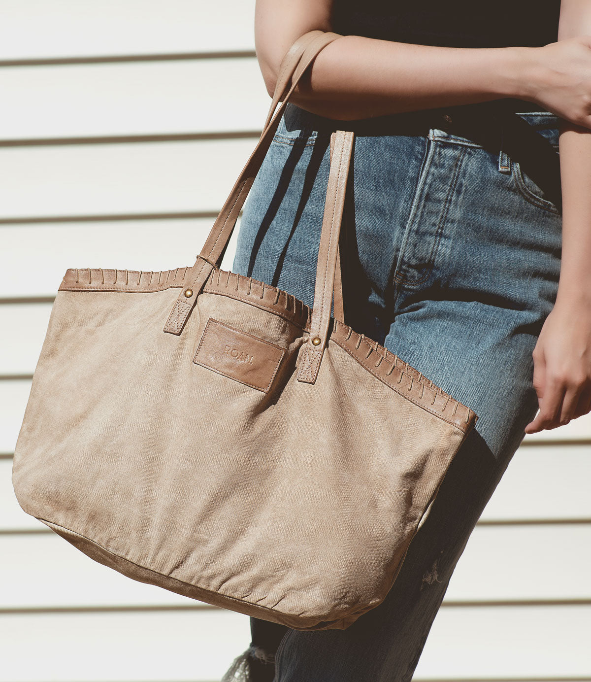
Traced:
POLYGON ((255 682, 411 679, 457 560, 537 411, 532 351, 558 289, 558 117, 503 117, 493 104, 362 121, 288 104, 245 203, 235 272, 312 306, 339 128, 357 133, 342 224, 345 321, 479 420, 384 602, 346 630, 252 618, 255 682))

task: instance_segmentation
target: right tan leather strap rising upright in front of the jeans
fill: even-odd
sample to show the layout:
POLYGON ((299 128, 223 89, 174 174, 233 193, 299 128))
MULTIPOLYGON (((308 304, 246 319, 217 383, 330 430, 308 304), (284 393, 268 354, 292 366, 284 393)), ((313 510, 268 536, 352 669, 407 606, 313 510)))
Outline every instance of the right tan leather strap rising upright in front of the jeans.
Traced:
POLYGON ((337 130, 331 134, 331 138, 333 136, 334 147, 318 250, 312 321, 309 337, 301 346, 297 374, 297 380, 305 383, 316 381, 329 336, 339 236, 353 149, 352 131, 337 130))

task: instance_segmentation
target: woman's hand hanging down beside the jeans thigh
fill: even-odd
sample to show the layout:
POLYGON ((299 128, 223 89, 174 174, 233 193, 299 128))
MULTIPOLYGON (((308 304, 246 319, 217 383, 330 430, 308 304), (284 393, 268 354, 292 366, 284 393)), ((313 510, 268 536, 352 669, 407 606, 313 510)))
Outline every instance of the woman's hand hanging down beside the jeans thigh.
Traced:
POLYGON ((553 429, 591 411, 591 299, 562 299, 532 353, 540 411, 526 433, 553 429))

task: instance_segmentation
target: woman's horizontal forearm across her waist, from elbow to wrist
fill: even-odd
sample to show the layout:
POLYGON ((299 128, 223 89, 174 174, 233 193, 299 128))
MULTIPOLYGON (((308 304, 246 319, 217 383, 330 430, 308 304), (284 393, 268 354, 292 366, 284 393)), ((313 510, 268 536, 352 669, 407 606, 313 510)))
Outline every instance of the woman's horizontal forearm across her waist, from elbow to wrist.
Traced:
MULTIPOLYGON (((524 72, 535 48, 448 48, 344 35, 326 46, 290 101, 352 120, 504 97, 529 99, 524 72)), ((264 59, 264 55, 259 59, 264 59)), ((272 92, 278 66, 263 70, 272 92)))

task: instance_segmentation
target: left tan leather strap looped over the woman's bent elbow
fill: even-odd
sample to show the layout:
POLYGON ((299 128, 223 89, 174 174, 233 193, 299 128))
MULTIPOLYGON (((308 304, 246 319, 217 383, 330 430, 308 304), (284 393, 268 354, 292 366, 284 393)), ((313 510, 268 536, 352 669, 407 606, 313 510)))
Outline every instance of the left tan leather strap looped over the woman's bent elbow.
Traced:
MULTIPOLYGON (((230 195, 226 199, 222 209, 219 211, 204 246, 199 256, 197 256, 197 260, 190 268, 190 273, 187 273, 189 274, 189 281, 191 284, 179 293, 175 305, 168 315, 168 319, 164 325, 164 331, 167 333, 179 336, 181 331, 183 331, 203 285, 207 281, 212 269, 217 267, 217 263, 224 253, 228 240, 234 230, 240 209, 242 208, 258 170, 262 165, 267 150, 271 146, 273 136, 275 135, 275 131, 277 130, 277 126, 279 125, 284 109, 287 106, 290 95, 297 87, 301 76, 309 65, 312 64, 320 50, 333 42, 333 40, 337 40, 337 38, 342 38, 342 35, 333 33, 332 31, 308 31, 308 33, 304 33, 304 35, 298 38, 290 50, 288 50, 288 53, 279 67, 281 79, 278 78, 278 84, 283 82, 286 74, 292 73, 293 76, 291 78, 290 88, 288 89, 281 106, 279 106, 277 112, 273 116, 273 119, 271 119, 269 124, 266 125, 262 131, 254 151, 249 156, 236 183, 234 183, 230 195), (301 55, 299 59, 298 55, 301 55)), ((279 95, 277 98, 278 97, 279 95)), ((275 97, 273 98, 273 102, 274 101, 275 97)), ((277 103, 275 102, 275 106, 276 104, 277 103)))

